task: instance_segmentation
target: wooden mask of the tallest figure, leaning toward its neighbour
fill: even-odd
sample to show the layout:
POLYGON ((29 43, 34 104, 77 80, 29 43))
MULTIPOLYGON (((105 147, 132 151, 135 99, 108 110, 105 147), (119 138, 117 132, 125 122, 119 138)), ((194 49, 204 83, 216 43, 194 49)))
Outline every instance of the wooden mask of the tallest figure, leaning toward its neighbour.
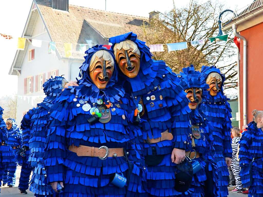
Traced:
POLYGON ((120 70, 129 78, 134 78, 138 75, 140 70, 140 55, 129 50, 117 49, 116 62, 120 70))

